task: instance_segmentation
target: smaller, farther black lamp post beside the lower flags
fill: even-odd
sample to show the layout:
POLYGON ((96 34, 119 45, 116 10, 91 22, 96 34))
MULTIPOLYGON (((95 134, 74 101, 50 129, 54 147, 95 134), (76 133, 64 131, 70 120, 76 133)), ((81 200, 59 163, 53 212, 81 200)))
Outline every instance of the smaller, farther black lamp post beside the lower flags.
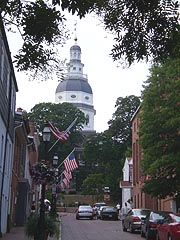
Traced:
POLYGON ((54 183, 52 184, 52 203, 51 203, 51 215, 56 216, 56 181, 58 177, 58 169, 56 168, 58 165, 58 155, 57 153, 53 157, 53 170, 54 170, 54 183))

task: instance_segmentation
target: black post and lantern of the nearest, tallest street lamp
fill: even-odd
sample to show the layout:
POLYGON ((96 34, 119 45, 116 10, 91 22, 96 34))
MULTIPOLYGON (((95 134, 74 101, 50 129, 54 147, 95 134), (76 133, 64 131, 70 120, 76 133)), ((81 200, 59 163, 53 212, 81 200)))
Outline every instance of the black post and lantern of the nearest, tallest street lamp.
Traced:
MULTIPOLYGON (((43 142, 45 146, 45 164, 47 163, 47 155, 48 155, 48 142, 51 138, 51 130, 46 124, 43 129, 43 142)), ((46 191, 46 179, 42 182, 41 188, 41 205, 40 205, 40 217, 39 217, 39 240, 45 239, 45 191, 46 191)))

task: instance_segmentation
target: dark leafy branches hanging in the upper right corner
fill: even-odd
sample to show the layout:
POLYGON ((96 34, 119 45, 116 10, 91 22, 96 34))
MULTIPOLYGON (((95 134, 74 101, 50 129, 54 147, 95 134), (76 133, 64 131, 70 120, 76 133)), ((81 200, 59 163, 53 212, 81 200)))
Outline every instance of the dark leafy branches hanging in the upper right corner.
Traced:
POLYGON ((143 59, 165 59, 179 45, 179 3, 174 0, 115 0, 104 9, 105 28, 115 34, 114 60, 131 65, 143 59))

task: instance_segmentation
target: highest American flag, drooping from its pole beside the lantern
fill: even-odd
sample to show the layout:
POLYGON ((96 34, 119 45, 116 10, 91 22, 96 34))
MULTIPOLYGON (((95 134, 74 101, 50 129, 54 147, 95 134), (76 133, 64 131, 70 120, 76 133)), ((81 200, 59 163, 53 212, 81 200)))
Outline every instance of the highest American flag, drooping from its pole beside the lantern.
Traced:
POLYGON ((57 127, 55 127, 51 122, 49 122, 49 126, 51 129, 52 134, 58 138, 60 141, 65 142, 68 137, 71 134, 71 128, 74 126, 74 124, 76 123, 77 118, 75 118, 72 123, 69 125, 69 127, 65 130, 65 131, 59 131, 59 129, 57 127))

